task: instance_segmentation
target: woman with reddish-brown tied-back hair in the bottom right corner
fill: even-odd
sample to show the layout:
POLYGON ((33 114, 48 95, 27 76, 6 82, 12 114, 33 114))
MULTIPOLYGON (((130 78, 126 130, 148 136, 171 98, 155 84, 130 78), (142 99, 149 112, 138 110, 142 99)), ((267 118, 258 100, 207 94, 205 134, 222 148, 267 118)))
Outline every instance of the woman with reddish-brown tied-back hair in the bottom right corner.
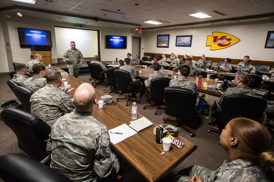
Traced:
POLYGON ((219 144, 229 159, 216 170, 191 166, 178 172, 174 181, 273 181, 273 139, 260 123, 235 118, 222 130, 219 144), (267 165, 266 165, 267 164, 267 165))

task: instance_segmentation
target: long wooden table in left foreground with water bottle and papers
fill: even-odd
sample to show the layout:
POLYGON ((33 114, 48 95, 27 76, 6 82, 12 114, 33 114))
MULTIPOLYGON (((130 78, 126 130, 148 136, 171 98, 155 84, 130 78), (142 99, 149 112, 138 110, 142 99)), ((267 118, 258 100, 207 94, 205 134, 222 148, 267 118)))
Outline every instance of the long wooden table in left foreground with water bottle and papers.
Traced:
MULTIPOLYGON (((62 71, 56 66, 54 69, 62 71)), ((70 78, 72 76, 68 73, 61 73, 64 73, 62 77, 68 78, 67 80, 73 80, 70 78)), ((71 81, 70 85, 74 89, 67 94, 73 97, 76 88, 82 83, 83 82, 80 80, 71 81)), ((64 83, 62 83, 61 86, 64 86, 64 83)), ((104 95, 96 89, 95 92, 97 100, 104 95)), ((105 104, 101 109, 96 104, 93 108, 93 116, 101 121, 109 130, 124 123, 129 125, 130 121, 133 121, 131 119, 131 109, 116 102, 115 99, 113 99, 112 104, 105 104)), ((137 119, 141 117, 143 116, 137 114, 137 119)), ((169 174, 172 169, 178 166, 193 151, 195 151, 197 146, 183 137, 177 136, 176 138, 183 142, 185 146, 180 150, 176 146, 171 145, 170 151, 161 155, 163 145, 155 142, 155 135, 153 134, 153 129, 158 124, 153 121, 151 122, 153 123, 153 126, 117 143, 116 145, 111 143, 111 147, 129 165, 138 171, 146 181, 159 181, 169 174)))

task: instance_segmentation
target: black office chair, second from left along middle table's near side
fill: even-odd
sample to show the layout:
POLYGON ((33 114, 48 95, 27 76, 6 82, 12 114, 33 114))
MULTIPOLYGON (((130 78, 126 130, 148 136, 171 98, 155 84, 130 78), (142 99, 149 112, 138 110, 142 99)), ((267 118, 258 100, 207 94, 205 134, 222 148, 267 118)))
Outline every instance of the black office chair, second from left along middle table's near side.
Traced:
POLYGON ((119 92, 120 94, 122 93, 121 90, 116 89, 116 80, 114 77, 114 70, 119 69, 118 67, 113 67, 107 69, 107 72, 105 73, 105 83, 107 86, 110 86, 110 89, 103 89, 104 93, 105 91, 109 92, 109 95, 114 91, 114 92, 119 92))

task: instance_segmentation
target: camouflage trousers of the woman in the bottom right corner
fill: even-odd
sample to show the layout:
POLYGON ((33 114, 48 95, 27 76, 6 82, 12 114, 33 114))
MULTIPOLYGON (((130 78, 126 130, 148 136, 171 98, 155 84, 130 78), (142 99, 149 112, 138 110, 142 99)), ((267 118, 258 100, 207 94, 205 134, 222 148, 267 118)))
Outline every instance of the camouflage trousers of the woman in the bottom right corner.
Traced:
POLYGON ((202 181, 206 181, 207 177, 215 175, 215 173, 215 171, 211 171, 210 169, 204 168, 202 166, 190 166, 179 171, 174 179, 174 182, 188 182, 188 180, 191 180, 194 174, 201 177, 202 181))

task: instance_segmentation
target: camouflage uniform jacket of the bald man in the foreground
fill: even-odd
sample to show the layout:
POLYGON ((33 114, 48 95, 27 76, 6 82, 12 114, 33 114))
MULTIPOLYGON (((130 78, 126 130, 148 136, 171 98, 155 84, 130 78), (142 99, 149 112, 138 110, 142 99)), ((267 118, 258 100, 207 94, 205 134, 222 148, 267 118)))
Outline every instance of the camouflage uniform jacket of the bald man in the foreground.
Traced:
POLYGON ((107 127, 90 113, 74 110, 57 119, 47 143, 50 167, 73 181, 99 181, 108 177, 113 167, 120 169, 110 151, 107 127))

